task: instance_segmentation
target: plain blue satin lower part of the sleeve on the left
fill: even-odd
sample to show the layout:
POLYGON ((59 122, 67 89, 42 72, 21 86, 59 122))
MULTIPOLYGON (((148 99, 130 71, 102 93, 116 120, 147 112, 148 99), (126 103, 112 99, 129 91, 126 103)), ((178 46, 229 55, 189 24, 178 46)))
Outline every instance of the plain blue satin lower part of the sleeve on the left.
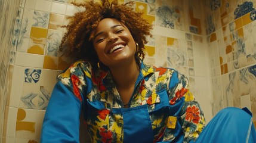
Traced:
POLYGON ((79 142, 80 111, 78 98, 58 82, 45 113, 41 142, 79 142))

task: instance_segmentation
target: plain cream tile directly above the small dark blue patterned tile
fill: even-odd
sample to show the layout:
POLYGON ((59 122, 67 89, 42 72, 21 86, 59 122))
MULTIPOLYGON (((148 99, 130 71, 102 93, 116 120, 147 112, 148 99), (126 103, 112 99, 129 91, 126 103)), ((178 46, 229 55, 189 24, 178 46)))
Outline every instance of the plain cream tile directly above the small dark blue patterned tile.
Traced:
POLYGON ((27 54, 26 66, 43 68, 44 65, 44 55, 38 54, 27 54))

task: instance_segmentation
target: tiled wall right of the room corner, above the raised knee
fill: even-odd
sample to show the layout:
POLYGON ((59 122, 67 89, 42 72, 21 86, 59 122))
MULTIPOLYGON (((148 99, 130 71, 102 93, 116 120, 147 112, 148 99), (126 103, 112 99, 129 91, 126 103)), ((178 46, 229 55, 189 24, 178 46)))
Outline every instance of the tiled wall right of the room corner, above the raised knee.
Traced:
MULTIPOLYGON (((256 1, 209 1, 206 8, 215 114, 248 107, 256 114, 256 1)), ((256 116, 253 116, 254 122, 256 116)))

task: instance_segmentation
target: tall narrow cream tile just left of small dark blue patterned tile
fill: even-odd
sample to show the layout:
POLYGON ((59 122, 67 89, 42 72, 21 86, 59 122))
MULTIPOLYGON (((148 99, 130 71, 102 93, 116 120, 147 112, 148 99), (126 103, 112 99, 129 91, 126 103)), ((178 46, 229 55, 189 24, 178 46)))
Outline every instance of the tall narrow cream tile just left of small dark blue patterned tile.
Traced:
POLYGON ((24 83, 24 67, 14 66, 11 81, 10 107, 18 107, 24 83))

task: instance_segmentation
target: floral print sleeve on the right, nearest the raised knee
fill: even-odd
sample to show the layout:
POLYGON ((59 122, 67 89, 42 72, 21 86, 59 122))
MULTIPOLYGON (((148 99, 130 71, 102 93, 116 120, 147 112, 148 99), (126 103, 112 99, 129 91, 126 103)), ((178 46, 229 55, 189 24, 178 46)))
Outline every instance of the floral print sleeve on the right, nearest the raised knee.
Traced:
POLYGON ((169 103, 175 104, 175 102, 181 100, 181 98, 184 100, 184 104, 178 114, 181 119, 180 123, 184 134, 183 142, 195 142, 202 132, 202 129, 205 127, 203 111, 189 90, 186 76, 174 71, 170 82, 170 85, 175 85, 171 88, 175 95, 171 98, 169 103))

